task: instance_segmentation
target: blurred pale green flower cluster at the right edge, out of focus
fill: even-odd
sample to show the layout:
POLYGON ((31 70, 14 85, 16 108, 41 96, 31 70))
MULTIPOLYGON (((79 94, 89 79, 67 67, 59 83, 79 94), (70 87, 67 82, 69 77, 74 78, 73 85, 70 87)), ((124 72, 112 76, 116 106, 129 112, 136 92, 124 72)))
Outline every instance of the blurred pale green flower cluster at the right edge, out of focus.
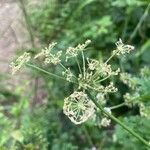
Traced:
POLYGON ((139 112, 142 117, 150 118, 150 68, 141 69, 139 76, 133 76, 128 73, 121 74, 121 80, 131 88, 130 93, 124 95, 125 104, 129 107, 139 106, 139 112))

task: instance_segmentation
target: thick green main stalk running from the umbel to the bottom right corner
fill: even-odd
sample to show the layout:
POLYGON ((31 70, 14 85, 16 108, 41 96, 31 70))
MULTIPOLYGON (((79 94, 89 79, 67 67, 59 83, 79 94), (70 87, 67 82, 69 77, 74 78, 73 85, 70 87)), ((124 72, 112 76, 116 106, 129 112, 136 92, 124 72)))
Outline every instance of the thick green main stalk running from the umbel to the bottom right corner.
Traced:
POLYGON ((129 132, 131 135, 133 135, 135 138, 137 138, 139 141, 141 141, 144 145, 146 145, 148 148, 150 148, 150 144, 143 139, 140 135, 138 135, 135 131, 133 131, 131 128, 126 126, 124 123, 122 123, 119 119, 117 119, 115 116, 112 114, 108 113, 106 110, 103 109, 103 107, 92 97, 92 95, 87 91, 88 95, 90 96, 91 100, 93 103, 105 114, 107 115, 110 119, 118 123, 121 127, 123 127, 127 132, 129 132))

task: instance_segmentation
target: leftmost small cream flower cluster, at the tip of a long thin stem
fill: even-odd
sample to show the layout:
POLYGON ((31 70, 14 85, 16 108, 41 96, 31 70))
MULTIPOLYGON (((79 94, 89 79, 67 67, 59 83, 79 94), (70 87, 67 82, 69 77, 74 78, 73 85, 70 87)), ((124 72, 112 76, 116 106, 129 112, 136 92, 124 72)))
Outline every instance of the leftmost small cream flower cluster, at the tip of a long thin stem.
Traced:
POLYGON ((29 62, 31 59, 31 56, 29 53, 24 52, 23 55, 19 56, 15 62, 12 62, 10 64, 12 68, 12 74, 15 74, 22 66, 24 66, 25 63, 29 62))

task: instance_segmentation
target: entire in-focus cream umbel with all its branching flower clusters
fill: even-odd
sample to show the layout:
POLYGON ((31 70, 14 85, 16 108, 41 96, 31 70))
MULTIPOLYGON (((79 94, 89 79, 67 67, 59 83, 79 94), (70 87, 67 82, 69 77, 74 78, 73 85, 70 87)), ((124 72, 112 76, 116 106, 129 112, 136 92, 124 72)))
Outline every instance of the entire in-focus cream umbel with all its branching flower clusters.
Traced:
MULTIPOLYGON (((106 104, 106 95, 108 93, 114 93, 117 91, 117 88, 114 86, 113 82, 110 82, 109 85, 102 84, 110 76, 115 76, 120 73, 120 69, 113 70, 111 65, 108 64, 111 58, 115 55, 120 55, 124 53, 129 53, 134 49, 131 45, 124 45, 121 39, 116 43, 117 49, 113 54, 103 62, 96 59, 90 59, 85 57, 84 50, 91 43, 90 40, 87 40, 84 44, 78 44, 76 47, 69 47, 65 52, 66 61, 69 58, 75 58, 74 60, 78 66, 78 74, 75 75, 70 67, 65 67, 61 63, 62 51, 57 53, 52 53, 52 49, 56 43, 51 43, 48 48, 44 48, 35 55, 35 59, 43 58, 45 64, 60 64, 62 67, 62 78, 66 79, 68 82, 76 84, 75 92, 70 96, 64 99, 63 111, 69 119, 75 123, 80 124, 88 120, 91 116, 95 115, 96 106, 93 101, 88 97, 85 91, 93 90, 97 92, 97 102, 104 106, 106 104), (82 57, 82 63, 78 60, 78 55, 82 57), (105 85, 105 86, 104 86, 105 85)), ((24 63, 28 62, 30 56, 28 53, 25 53, 23 56, 20 56, 16 60, 16 64, 12 64, 13 72, 16 72, 24 63)), ((42 70, 42 69, 40 69, 42 70)), ((60 75, 57 77, 60 77, 60 75)), ((125 80, 126 81, 126 80, 125 80)), ((105 111, 111 113, 110 109, 104 108, 105 111)), ((105 115, 101 120, 102 126, 108 126, 110 120, 107 119, 105 115)))

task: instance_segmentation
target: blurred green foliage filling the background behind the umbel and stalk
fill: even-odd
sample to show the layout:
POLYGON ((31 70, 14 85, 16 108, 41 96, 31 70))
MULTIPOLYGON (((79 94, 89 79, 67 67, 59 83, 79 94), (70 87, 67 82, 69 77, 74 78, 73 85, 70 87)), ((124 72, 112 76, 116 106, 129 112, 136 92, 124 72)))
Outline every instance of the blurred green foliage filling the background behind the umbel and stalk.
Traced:
MULTIPOLYGON (((41 49, 39 43, 42 47, 52 41, 58 42, 57 51, 57 48, 66 49, 91 39, 87 55, 105 60, 119 38, 135 46, 131 55, 111 62, 114 67, 131 74, 128 78, 131 86, 124 84, 119 76, 113 79, 119 92, 109 95, 107 105, 123 103, 124 95, 129 93, 133 103, 114 109, 113 113, 150 141, 149 0, 45 0, 36 4, 25 1, 21 6, 26 9, 31 41, 34 39, 33 49, 25 51, 37 53, 41 49), (144 67, 147 68, 141 71, 144 67), (141 103, 146 107, 147 116, 141 114, 141 103)), ((74 62, 70 64, 72 68, 76 68, 75 65, 74 62)), ((53 66, 45 69, 60 72, 53 66)), ((22 81, 22 86, 14 91, 5 90, 1 85, 0 149, 146 150, 114 122, 108 128, 92 122, 74 125, 62 112, 63 99, 72 92, 73 86, 35 70, 28 72, 35 80, 34 87, 29 80, 22 81), (26 92, 29 87, 32 90, 26 92), (37 98, 39 90, 46 93, 44 98, 37 98)))

